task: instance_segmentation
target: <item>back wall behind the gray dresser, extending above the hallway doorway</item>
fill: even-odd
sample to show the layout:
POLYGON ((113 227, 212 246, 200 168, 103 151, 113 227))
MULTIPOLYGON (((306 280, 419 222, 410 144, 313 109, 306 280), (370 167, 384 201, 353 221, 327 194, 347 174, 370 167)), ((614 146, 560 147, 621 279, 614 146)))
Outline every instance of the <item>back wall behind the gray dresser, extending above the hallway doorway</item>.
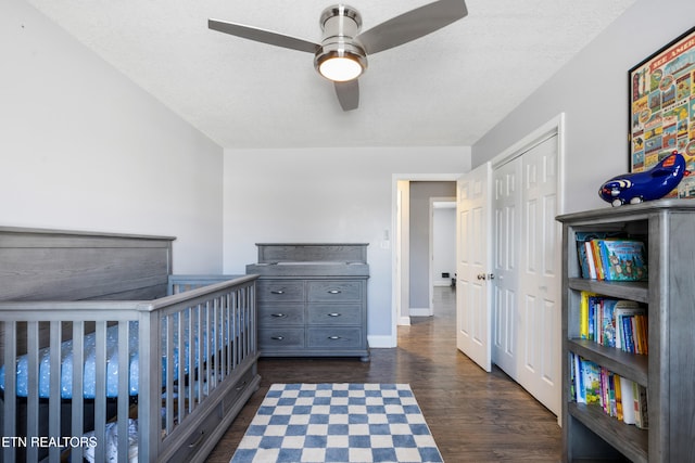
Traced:
POLYGON ((260 242, 369 243, 367 331, 377 346, 392 336, 394 173, 464 172, 469 153, 468 147, 226 150, 224 270, 244 271, 256 261, 260 242))

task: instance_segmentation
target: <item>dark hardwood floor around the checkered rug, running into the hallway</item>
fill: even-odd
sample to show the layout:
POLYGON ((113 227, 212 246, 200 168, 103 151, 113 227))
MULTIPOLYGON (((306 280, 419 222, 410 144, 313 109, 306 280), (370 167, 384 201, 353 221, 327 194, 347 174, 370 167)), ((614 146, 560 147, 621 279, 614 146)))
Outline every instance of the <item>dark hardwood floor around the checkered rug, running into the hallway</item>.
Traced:
POLYGON ((408 383, 445 462, 558 462, 557 417, 504 372, 456 349, 455 292, 435 290, 434 317, 399 327, 399 347, 358 359, 261 359, 261 388, 207 461, 227 463, 274 383, 408 383))

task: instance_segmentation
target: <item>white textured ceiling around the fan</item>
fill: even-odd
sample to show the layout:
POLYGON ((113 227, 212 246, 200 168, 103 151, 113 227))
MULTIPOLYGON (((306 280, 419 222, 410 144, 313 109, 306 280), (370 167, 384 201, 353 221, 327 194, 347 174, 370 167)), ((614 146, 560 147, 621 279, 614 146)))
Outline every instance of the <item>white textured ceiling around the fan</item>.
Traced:
MULTIPOLYGON (((369 57, 343 112, 313 56, 207 18, 320 41, 326 0, 29 0, 224 147, 471 145, 635 0, 467 0, 468 16, 369 57)), ((363 30, 427 0, 351 0, 363 30)))

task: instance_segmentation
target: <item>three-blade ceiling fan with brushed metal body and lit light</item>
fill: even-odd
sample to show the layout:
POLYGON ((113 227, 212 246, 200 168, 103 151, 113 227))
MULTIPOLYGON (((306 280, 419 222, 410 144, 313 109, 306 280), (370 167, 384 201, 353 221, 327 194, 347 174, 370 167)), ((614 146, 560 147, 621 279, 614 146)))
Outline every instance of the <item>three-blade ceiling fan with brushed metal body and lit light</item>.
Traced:
POLYGON ((367 55, 426 36, 467 14, 465 0, 439 0, 361 34, 359 12, 346 4, 337 4, 327 8, 320 15, 320 43, 218 20, 208 20, 207 27, 244 39, 313 53, 314 67, 321 76, 333 81, 343 111, 351 111, 359 104, 357 78, 367 69, 367 55))

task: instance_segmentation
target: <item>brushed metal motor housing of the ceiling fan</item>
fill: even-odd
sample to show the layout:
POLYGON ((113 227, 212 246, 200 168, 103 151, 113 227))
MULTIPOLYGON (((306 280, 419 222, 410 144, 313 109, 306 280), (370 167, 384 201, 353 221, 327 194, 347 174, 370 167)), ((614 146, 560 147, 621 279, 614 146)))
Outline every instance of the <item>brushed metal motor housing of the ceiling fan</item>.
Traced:
MULTIPOLYGON (((314 67, 319 74, 321 64, 331 59, 348 59, 359 65, 362 73, 367 69, 367 53, 361 43, 355 39, 362 28, 362 16, 359 12, 345 4, 336 4, 327 8, 321 13, 319 20, 324 36, 321 48, 314 55, 314 67)), ((324 77, 326 77, 324 75, 324 77)), ((352 80, 348 79, 348 80, 352 80)))

